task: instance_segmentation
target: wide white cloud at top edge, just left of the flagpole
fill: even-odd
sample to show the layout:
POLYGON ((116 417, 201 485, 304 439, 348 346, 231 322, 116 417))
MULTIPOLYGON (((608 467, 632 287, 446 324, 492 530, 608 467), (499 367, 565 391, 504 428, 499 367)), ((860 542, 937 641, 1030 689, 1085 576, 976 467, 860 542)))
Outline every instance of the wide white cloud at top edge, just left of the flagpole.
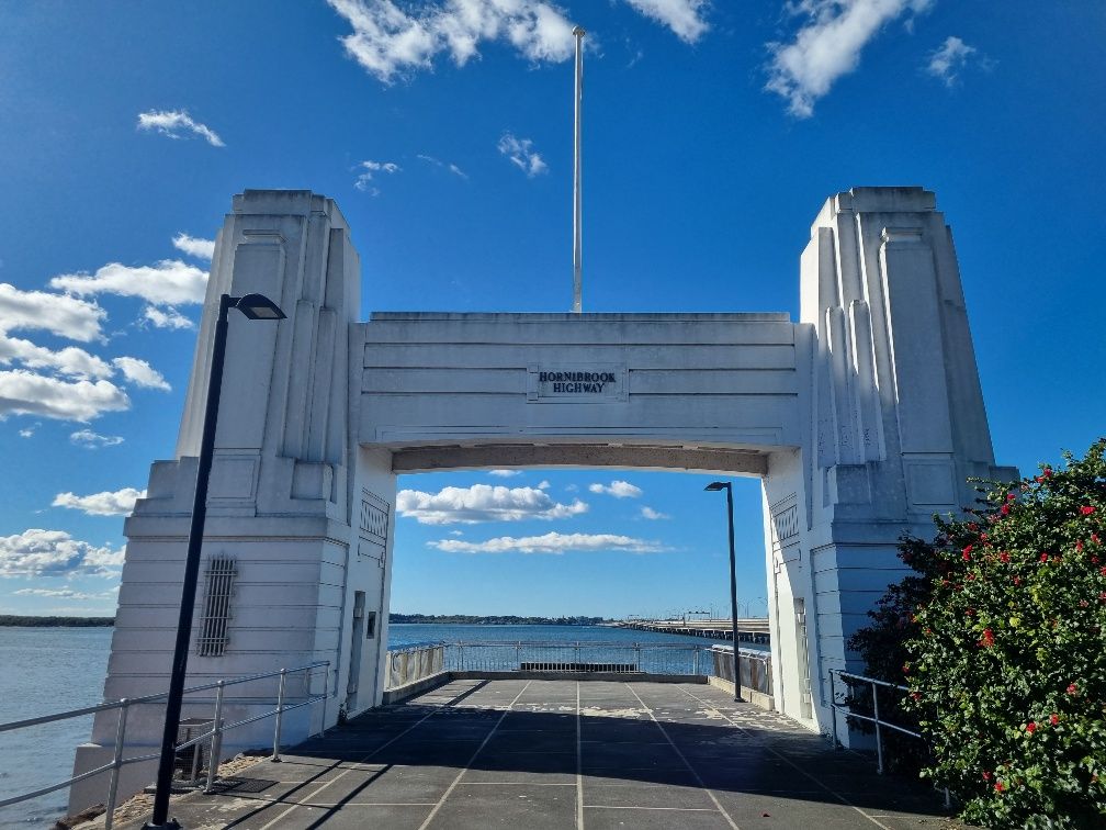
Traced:
POLYGON ((353 27, 343 37, 346 53, 382 83, 428 70, 448 52, 463 66, 479 56, 481 41, 503 40, 530 61, 565 61, 573 54, 572 23, 555 6, 540 0, 327 0, 353 27), (413 8, 415 7, 415 8, 413 8))

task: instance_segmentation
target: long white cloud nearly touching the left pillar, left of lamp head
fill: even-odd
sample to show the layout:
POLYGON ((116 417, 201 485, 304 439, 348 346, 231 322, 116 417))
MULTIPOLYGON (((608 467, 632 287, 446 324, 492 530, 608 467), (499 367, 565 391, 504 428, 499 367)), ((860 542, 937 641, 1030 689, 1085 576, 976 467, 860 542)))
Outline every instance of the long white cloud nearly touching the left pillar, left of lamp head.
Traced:
POLYGON ((108 262, 96 273, 63 273, 50 287, 71 294, 118 294, 139 297, 154 305, 204 302, 207 271, 179 259, 164 259, 155 266, 124 266, 108 262))

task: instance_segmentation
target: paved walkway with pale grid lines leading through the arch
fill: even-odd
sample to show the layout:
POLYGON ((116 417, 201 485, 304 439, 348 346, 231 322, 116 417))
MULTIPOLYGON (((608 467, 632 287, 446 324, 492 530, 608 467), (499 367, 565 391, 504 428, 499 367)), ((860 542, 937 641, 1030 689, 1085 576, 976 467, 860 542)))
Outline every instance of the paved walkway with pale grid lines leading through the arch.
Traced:
POLYGON ((693 684, 455 681, 283 759, 171 812, 190 830, 957 827, 932 791, 693 684))

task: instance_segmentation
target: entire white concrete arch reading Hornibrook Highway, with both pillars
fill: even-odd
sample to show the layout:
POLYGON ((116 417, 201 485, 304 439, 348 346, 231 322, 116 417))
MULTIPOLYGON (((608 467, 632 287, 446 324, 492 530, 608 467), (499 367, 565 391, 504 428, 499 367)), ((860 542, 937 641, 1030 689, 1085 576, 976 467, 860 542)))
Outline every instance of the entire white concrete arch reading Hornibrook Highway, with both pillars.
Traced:
MULTIPOLYGON (((775 703, 826 725, 827 672, 860 668, 845 641, 901 575, 899 535, 926 533, 931 513, 969 504, 967 477, 1016 470, 994 465, 951 234, 931 193, 831 197, 800 271, 799 322, 436 312, 359 322, 358 258, 335 203, 234 197, 176 458, 154 464, 127 519, 105 697, 167 685, 164 609, 179 598, 215 310, 223 292, 258 291, 290 319, 231 324, 204 556, 232 558, 238 581, 228 649, 194 654, 190 684, 330 660, 327 724, 343 702, 355 714, 379 701, 386 624, 359 649, 351 637, 356 613, 387 620, 399 473, 702 469, 763 481, 775 703)), ((293 719, 289 739, 310 726, 293 719)), ((114 728, 97 718, 79 770, 102 762, 114 728)), ((131 734, 156 746, 156 713, 131 734)), ((72 805, 94 800, 96 786, 75 787, 72 805)))

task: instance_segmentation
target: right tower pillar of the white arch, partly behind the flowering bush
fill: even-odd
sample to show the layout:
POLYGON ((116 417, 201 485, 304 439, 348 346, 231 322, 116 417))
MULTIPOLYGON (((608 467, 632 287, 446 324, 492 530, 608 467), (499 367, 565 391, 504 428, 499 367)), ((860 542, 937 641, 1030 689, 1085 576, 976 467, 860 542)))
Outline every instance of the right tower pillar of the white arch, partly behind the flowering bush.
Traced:
POLYGON ((830 198, 801 279, 801 320, 814 332, 812 435, 806 469, 773 454, 765 478, 770 615, 776 707, 827 729, 828 670, 863 671, 845 643, 904 575, 899 536, 931 537, 932 513, 970 505, 969 476, 1018 470, 994 465, 951 232, 932 193, 830 198), (803 515, 789 537, 792 494, 803 515))

